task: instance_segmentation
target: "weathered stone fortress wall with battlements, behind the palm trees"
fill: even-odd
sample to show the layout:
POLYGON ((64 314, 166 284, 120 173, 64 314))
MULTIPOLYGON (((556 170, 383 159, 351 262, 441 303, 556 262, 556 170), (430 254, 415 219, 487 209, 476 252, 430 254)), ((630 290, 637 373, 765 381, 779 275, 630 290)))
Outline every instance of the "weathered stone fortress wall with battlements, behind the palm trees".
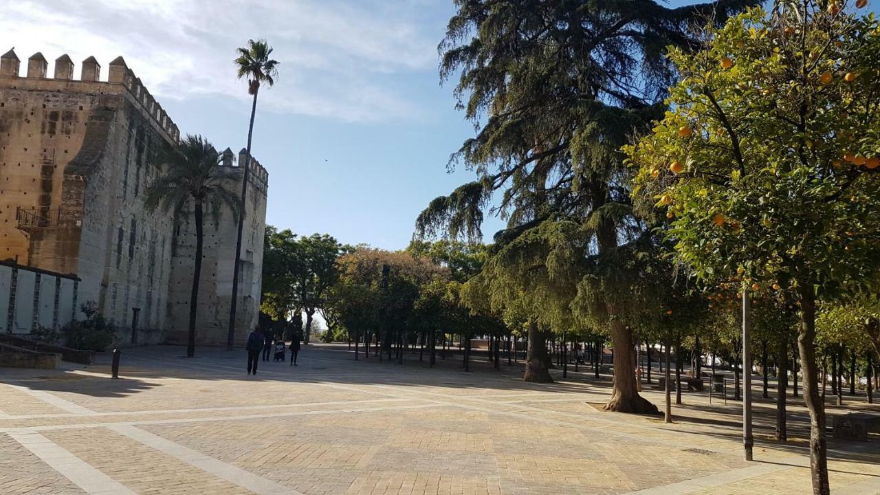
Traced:
MULTIPOLYGON (((121 57, 106 81, 91 56, 79 80, 68 55, 55 60, 54 78, 40 53, 24 78, 20 65, 13 51, 0 57, 0 260, 78 277, 77 299, 93 301, 121 327, 130 329, 138 308, 137 331, 121 332, 121 340, 185 342, 192 215, 143 209, 144 188, 161 172, 157 156, 180 141, 180 130, 121 57)), ((246 153, 238 164, 231 155, 224 151, 224 181, 240 191, 246 153)), ((255 159, 249 168, 239 341, 257 321, 268 188, 265 168, 255 159)), ((225 342, 235 229, 229 211, 216 228, 205 225, 202 344, 225 342)))

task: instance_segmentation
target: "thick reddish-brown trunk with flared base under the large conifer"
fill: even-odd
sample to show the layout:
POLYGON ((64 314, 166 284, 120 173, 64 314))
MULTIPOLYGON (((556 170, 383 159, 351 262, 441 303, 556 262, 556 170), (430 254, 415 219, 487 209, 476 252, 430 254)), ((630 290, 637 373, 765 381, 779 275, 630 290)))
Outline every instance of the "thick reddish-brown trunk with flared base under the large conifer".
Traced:
POLYGON ((614 344, 614 381, 611 400, 603 410, 657 414, 656 405, 639 395, 635 389, 635 353, 633 332, 614 316, 614 308, 608 305, 611 316, 611 338, 614 344))

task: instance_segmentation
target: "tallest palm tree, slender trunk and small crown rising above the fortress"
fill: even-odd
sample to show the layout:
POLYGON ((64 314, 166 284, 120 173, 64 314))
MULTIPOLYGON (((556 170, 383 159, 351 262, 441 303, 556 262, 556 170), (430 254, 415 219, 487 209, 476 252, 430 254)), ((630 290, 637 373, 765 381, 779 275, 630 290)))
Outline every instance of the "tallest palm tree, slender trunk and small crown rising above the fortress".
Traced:
MULTIPOLYGON (((238 68, 238 78, 247 79, 247 92, 253 94, 251 106, 251 123, 247 128, 247 155, 245 167, 245 180, 241 183, 241 204, 245 204, 247 196, 247 176, 251 159, 251 138, 253 137, 253 117, 257 114, 257 93, 260 85, 269 87, 275 85, 278 77, 278 62, 269 58, 272 47, 266 40, 248 40, 247 47, 236 50, 238 57, 233 61, 238 68)), ((241 232, 244 228, 243 218, 238 218, 238 238, 235 241, 235 269, 232 271, 232 302, 229 310, 229 333, 226 336, 226 347, 232 350, 232 340, 235 337, 235 310, 238 302, 238 263, 241 257, 241 232)))

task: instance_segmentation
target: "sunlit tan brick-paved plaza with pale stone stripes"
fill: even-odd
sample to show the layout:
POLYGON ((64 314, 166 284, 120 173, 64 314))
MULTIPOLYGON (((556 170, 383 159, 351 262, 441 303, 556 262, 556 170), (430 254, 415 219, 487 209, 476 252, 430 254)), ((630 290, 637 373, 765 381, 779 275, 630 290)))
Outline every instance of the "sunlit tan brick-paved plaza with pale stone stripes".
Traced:
MULTIPOLYGON (((480 359, 463 373, 453 358, 430 369, 412 355, 401 367, 331 344, 248 376, 243 351, 183 354, 125 350, 120 380, 106 355, 63 371, 0 368, 0 493, 810 492, 800 404, 789 410, 800 438, 776 444, 774 405, 756 399, 756 462, 744 462, 739 403, 705 394, 686 394, 665 425, 599 411, 608 378, 587 373, 530 384, 522 364, 480 359)), ((829 447, 833 493, 880 493, 876 439, 829 447)))

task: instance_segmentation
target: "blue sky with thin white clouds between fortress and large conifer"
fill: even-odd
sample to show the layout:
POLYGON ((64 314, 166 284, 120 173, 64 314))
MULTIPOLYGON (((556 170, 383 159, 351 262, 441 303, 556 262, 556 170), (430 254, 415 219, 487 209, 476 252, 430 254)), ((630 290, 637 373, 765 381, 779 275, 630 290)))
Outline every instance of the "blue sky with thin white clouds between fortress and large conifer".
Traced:
MULTIPOLYGON (((23 60, 40 51, 50 61, 67 53, 77 75, 78 62, 95 55, 102 78, 122 55, 181 132, 233 151, 246 144, 250 101, 231 59, 248 38, 268 39, 280 77, 260 93, 253 155, 269 171, 269 224, 399 249, 431 199, 473 180, 463 169, 446 173, 474 133, 437 75, 451 0, 0 5, 0 53, 15 47, 23 60)), ((483 233, 501 226, 489 218, 483 233)))

